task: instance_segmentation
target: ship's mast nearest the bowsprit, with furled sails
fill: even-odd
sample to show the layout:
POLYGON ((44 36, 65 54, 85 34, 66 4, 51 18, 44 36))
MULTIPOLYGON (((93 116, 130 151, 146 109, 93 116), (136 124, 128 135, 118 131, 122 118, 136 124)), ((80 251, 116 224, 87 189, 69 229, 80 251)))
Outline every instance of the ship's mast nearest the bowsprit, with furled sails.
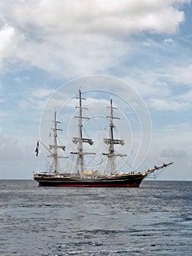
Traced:
POLYGON ((123 140, 114 139, 114 132, 113 132, 114 122, 113 122, 113 119, 120 119, 120 118, 113 116, 113 110, 118 109, 118 108, 113 107, 112 99, 110 101, 110 107, 107 107, 107 108, 110 108, 110 116, 107 116, 108 118, 110 118, 110 138, 105 138, 104 143, 106 143, 107 145, 110 145, 110 146, 109 146, 109 153, 107 153, 107 154, 104 153, 104 155, 106 155, 109 158, 111 175, 114 175, 115 171, 116 171, 115 157, 126 157, 126 154, 115 154, 114 145, 115 144, 120 144, 121 146, 123 146, 125 143, 124 143, 123 140))

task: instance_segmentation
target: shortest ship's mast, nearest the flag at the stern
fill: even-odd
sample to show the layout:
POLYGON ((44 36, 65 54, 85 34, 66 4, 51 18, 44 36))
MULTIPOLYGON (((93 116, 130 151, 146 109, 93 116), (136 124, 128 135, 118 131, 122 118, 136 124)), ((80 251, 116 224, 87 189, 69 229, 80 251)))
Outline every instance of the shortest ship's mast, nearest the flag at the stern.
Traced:
MULTIPOLYGON (((53 139, 53 145, 50 145, 50 148, 48 149, 48 151, 50 151, 50 156, 48 157, 53 157, 53 166, 54 166, 54 173, 55 175, 58 175, 58 158, 67 158, 67 157, 58 157, 58 148, 61 148, 63 150, 65 150, 65 146, 62 146, 62 145, 58 145, 58 133, 57 131, 62 131, 62 129, 58 129, 57 128, 57 124, 61 124, 60 121, 57 121, 57 117, 56 117, 56 111, 55 111, 55 115, 54 115, 54 128, 53 129, 53 132, 54 132, 54 139, 53 139), (53 149, 53 152, 51 151, 53 149)), ((43 144, 44 145, 44 144, 43 144)))

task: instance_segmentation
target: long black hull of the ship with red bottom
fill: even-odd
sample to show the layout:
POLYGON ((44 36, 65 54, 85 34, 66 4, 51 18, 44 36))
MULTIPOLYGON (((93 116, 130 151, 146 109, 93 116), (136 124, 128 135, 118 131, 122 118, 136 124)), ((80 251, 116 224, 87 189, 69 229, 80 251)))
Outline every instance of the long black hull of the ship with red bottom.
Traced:
POLYGON ((144 178, 142 175, 88 179, 34 177, 39 187, 139 187, 144 178))

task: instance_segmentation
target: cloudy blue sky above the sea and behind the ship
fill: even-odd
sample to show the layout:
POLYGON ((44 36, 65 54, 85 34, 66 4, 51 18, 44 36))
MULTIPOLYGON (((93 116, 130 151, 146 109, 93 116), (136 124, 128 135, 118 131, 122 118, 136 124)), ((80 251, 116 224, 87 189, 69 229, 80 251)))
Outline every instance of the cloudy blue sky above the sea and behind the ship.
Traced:
POLYGON ((55 110, 70 140, 80 88, 95 150, 112 97, 130 166, 173 161, 157 179, 191 181, 191 23, 191 0, 1 1, 0 178, 42 168, 55 110))

